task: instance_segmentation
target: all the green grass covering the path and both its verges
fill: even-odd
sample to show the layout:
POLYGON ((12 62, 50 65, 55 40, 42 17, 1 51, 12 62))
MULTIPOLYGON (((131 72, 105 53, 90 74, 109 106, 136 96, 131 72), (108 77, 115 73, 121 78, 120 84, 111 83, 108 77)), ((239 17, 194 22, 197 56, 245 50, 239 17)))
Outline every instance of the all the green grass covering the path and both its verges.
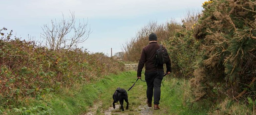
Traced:
MULTIPOLYGON (((203 108, 189 107, 188 85, 187 81, 180 79, 170 79, 170 76, 164 77, 161 88, 160 110, 149 109, 153 115, 205 115, 207 110, 203 108)), ((128 114, 137 115, 145 111, 146 108, 146 82, 138 80, 135 86, 128 91, 129 109, 124 112, 119 109, 109 110, 112 108, 112 95, 117 87, 128 90, 136 81, 136 72, 122 72, 118 75, 109 75, 103 77, 99 81, 86 85, 74 84, 72 88, 61 90, 58 94, 49 93, 44 96, 43 100, 28 100, 27 108, 43 106, 45 109, 40 112, 42 114, 56 115, 78 115, 88 112, 88 108, 92 107, 96 102, 98 107, 95 114, 104 115, 102 111, 108 110, 114 115, 128 114)), ((142 79, 145 79, 142 76, 142 79)), ((119 103, 118 103, 119 104, 119 103)), ((124 106, 126 103, 124 102, 124 106)), ((27 109, 28 110, 28 109, 27 109)), ((10 110, 6 114, 24 114, 26 110, 14 111, 10 110)), ((26 115, 26 114, 24 114, 26 115)))

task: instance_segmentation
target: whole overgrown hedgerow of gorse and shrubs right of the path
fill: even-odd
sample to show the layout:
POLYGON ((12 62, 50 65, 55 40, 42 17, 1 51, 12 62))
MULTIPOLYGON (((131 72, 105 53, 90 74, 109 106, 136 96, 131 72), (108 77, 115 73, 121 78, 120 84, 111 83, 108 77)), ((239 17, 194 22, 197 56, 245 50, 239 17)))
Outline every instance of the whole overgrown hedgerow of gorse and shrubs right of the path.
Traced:
MULTIPOLYGON (((174 31, 159 42, 169 51, 173 76, 190 81, 192 98, 184 100, 192 107, 212 108, 209 114, 255 114, 256 1, 209 0, 202 7, 201 13, 188 11, 181 24, 162 25, 169 28, 163 32, 143 28, 138 34, 174 31)), ((139 60, 138 51, 148 44, 148 34, 142 36, 127 48, 136 60, 127 60, 139 60)))

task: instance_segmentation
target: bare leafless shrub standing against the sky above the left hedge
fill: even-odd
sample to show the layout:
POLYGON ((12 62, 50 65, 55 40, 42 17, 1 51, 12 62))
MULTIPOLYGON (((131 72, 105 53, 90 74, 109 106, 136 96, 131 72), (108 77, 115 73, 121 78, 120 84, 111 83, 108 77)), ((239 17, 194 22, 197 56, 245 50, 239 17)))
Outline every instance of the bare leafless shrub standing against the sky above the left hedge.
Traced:
POLYGON ((42 27, 41 37, 53 50, 76 48, 77 44, 87 40, 91 33, 88 21, 76 23, 74 12, 70 12, 69 19, 65 19, 63 14, 62 17, 59 22, 56 19, 51 20, 51 25, 44 24, 42 27))

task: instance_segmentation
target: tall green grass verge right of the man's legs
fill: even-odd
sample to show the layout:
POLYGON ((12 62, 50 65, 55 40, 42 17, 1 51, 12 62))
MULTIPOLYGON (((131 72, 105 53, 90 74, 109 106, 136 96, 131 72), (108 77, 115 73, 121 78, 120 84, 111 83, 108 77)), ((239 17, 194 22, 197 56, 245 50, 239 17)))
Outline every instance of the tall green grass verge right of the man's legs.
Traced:
POLYGON ((162 104, 173 115, 207 115, 209 106, 191 103, 190 89, 187 80, 171 78, 163 79, 161 88, 162 104))

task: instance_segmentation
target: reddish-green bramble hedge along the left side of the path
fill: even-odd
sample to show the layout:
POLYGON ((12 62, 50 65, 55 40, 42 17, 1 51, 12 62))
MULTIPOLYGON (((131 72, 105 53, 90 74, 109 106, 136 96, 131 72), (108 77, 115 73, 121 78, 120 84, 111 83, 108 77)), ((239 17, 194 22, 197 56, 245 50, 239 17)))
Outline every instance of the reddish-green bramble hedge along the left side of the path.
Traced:
POLYGON ((122 63, 102 53, 79 48, 53 51, 34 41, 10 39, 11 32, 0 39, 0 108, 15 108, 24 98, 43 99, 46 93, 123 70, 122 63))

